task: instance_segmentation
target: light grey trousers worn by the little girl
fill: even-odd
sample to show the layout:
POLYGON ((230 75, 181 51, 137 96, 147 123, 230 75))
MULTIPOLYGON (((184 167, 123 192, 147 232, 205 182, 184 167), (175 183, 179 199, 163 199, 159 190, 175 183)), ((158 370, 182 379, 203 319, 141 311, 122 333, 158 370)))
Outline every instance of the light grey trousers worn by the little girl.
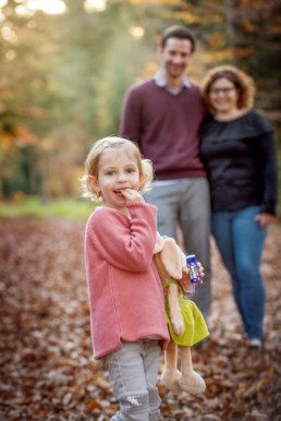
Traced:
POLYGON ((120 411, 112 421, 158 421, 161 399, 157 388, 160 346, 157 339, 122 341, 105 357, 120 411))

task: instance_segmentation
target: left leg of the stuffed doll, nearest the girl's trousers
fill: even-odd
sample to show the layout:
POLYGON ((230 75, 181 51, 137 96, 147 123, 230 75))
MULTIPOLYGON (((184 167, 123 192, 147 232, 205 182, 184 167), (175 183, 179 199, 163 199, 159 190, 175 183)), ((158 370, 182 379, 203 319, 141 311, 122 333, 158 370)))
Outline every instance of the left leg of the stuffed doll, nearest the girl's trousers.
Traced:
POLYGON ((161 384, 172 392, 181 392, 179 380, 181 372, 178 370, 178 346, 171 340, 164 352, 164 369, 161 374, 161 384))

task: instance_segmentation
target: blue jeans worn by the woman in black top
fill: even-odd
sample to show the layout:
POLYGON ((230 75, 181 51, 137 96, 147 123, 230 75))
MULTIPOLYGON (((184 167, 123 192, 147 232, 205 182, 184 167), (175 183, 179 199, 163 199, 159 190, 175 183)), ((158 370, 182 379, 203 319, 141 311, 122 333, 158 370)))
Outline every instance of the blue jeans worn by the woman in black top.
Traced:
POLYGON ((262 337, 266 292, 259 273, 267 228, 255 220, 259 206, 213 212, 211 229, 231 279, 235 303, 249 339, 262 337))

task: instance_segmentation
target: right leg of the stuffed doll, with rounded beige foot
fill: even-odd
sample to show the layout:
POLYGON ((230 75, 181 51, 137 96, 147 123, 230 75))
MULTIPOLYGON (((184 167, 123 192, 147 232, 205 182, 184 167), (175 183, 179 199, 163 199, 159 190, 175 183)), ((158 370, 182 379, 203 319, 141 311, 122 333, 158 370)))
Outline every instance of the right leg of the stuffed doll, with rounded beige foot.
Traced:
POLYGON ((203 377, 193 370, 192 351, 190 347, 180 347, 182 375, 179 385, 182 390, 191 395, 201 394, 206 389, 203 377))

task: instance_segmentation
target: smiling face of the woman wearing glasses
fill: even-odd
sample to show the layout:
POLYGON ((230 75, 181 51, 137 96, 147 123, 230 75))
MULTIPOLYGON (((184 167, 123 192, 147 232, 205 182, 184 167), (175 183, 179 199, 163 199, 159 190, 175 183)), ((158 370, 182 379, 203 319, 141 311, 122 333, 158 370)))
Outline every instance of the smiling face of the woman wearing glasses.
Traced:
POLYGON ((217 79, 209 91, 209 101, 215 113, 231 113, 237 109, 239 93, 227 77, 217 79))

